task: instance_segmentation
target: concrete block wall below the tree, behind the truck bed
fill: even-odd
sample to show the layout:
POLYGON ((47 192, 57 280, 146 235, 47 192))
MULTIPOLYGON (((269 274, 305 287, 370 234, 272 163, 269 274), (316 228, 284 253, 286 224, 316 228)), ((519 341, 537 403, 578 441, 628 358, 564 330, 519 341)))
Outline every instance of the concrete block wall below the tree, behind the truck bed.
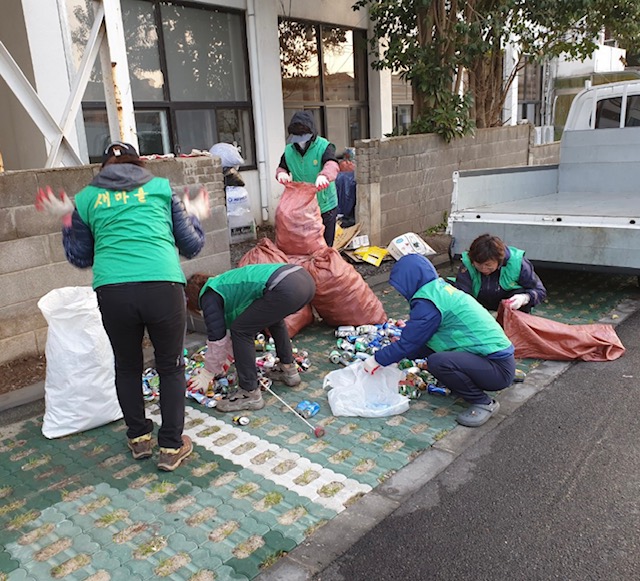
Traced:
POLYGON ((478 130, 444 142, 433 134, 356 143, 356 219, 372 244, 446 222, 455 170, 529 163, 530 125, 478 130))

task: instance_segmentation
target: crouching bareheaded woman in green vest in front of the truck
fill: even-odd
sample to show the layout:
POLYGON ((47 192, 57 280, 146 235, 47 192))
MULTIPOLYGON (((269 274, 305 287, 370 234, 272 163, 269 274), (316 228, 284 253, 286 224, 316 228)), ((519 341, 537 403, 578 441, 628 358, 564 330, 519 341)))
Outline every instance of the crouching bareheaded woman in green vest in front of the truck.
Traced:
POLYGON ((491 234, 478 236, 463 252, 455 286, 490 311, 504 301, 507 308, 528 313, 547 297, 524 251, 491 234))

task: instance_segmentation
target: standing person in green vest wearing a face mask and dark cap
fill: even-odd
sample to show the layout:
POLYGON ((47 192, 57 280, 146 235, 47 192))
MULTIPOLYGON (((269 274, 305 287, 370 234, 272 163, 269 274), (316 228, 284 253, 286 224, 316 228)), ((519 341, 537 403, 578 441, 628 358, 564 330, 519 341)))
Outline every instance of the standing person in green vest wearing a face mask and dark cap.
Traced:
POLYGON ((299 111, 289 123, 289 138, 276 179, 281 184, 291 181, 315 184, 318 189, 318 205, 324 224, 324 239, 327 246, 333 246, 338 216, 338 194, 336 176, 340 172, 336 147, 316 130, 313 113, 299 111))

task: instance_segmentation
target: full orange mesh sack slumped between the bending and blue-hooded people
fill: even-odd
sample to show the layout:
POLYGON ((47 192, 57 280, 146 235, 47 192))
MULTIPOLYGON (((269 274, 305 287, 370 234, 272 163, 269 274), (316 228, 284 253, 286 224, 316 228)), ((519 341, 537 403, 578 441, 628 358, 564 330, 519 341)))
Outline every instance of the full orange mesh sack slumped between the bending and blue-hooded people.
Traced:
POLYGON ((384 323, 382 303, 358 271, 347 264, 334 248, 323 248, 303 265, 316 283, 311 301, 327 325, 384 323))

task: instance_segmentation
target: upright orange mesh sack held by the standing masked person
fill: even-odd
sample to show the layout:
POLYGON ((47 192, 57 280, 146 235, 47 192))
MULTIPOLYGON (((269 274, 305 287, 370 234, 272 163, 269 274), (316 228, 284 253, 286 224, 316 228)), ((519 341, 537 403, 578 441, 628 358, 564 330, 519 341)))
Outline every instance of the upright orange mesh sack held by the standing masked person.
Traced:
POLYGON ((276 209, 276 246, 285 254, 313 254, 327 247, 316 187, 286 184, 276 209))

